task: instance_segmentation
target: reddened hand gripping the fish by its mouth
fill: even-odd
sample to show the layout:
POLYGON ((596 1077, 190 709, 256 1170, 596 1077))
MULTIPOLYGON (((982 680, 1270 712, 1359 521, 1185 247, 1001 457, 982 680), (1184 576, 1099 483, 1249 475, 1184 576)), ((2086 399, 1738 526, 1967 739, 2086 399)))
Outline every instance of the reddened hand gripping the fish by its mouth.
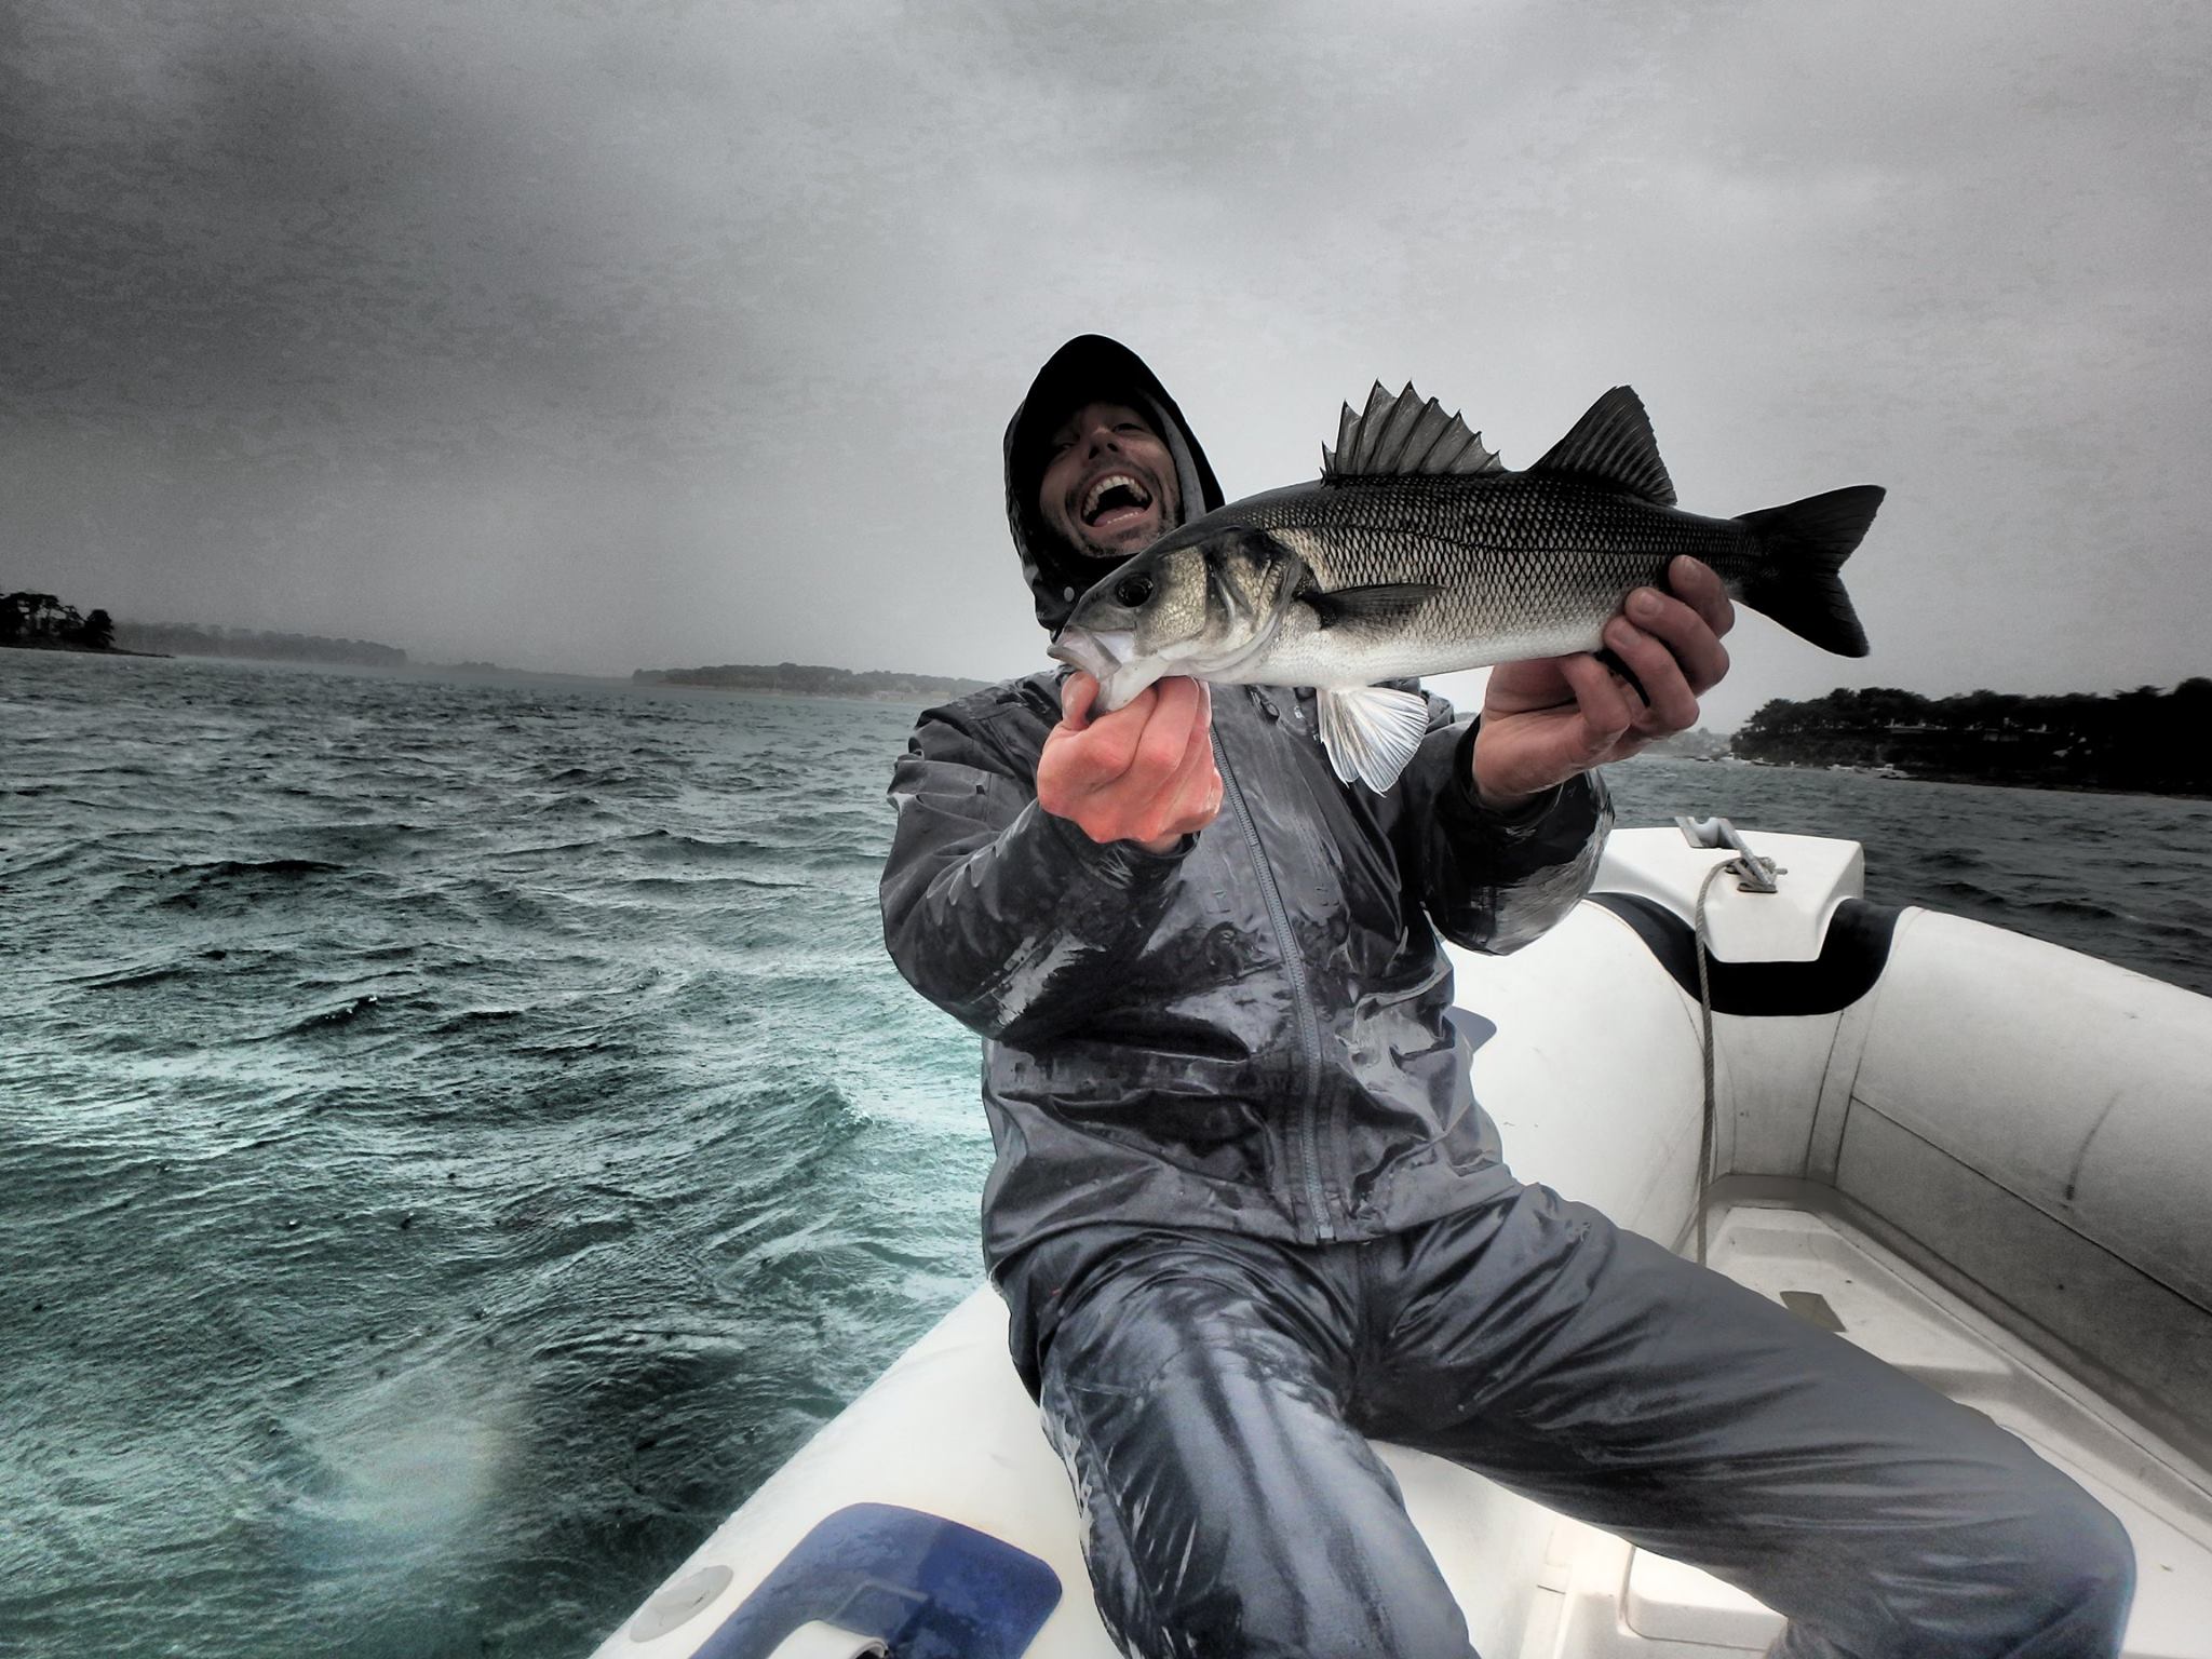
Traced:
POLYGON ((1201 679, 1161 679, 1091 719, 1097 695, 1091 675, 1068 675, 1037 757, 1037 805, 1093 841, 1172 852, 1221 812, 1212 695, 1201 679))

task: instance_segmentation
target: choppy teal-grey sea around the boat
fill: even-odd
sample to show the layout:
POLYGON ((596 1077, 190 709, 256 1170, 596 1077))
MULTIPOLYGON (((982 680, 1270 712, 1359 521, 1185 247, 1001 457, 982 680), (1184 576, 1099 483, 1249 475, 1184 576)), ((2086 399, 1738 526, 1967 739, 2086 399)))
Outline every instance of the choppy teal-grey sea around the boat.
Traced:
MULTIPOLYGON (((0 650, 0 1655, 580 1659, 975 1285, 916 712, 0 650)), ((1608 776, 2212 993, 2212 803, 1608 776)))

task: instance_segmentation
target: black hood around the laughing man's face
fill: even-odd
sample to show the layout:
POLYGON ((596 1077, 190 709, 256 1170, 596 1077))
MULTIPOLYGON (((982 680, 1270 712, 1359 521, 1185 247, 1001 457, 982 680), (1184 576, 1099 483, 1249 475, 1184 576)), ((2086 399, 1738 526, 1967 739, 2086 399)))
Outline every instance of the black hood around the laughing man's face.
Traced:
POLYGON ((1206 451, 1183 425, 1183 411, 1144 358, 1104 334, 1077 334, 1053 352, 1029 385, 1029 396, 1006 422, 1006 524, 1022 555, 1022 577, 1037 597, 1037 622, 1057 630, 1075 599, 1110 568, 1104 560, 1071 549, 1037 513, 1046 445, 1053 427, 1086 403, 1126 403, 1150 416, 1175 456, 1175 480, 1183 498, 1181 524, 1221 507, 1221 484, 1206 451))

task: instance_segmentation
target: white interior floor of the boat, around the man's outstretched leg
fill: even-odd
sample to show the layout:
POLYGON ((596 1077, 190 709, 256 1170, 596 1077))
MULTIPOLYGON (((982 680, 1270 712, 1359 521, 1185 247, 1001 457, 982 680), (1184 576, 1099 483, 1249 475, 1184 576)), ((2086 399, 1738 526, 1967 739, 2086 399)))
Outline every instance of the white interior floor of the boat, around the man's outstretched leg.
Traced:
MULTIPOLYGON (((2212 1482, 2079 1378, 1829 1214, 1745 1201, 1708 1259, 1986 1411, 2095 1493, 2135 1542, 2130 1659, 2212 1659, 2212 1482)), ((1520 1659, 1732 1659, 1781 1619, 1719 1579, 1559 1522, 1520 1659)))

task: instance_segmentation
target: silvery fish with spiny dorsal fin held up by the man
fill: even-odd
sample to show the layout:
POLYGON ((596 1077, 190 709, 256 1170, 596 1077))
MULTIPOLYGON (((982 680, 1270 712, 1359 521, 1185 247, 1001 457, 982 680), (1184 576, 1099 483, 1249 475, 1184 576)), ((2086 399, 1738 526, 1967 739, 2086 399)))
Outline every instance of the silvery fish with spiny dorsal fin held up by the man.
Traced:
POLYGON ((1843 562, 1882 504, 1849 484, 1736 518, 1674 504, 1650 416, 1619 385, 1526 471, 1411 383, 1347 403, 1321 478, 1183 524, 1099 577, 1051 655, 1097 710, 1164 675, 1312 686, 1345 783, 1396 783, 1427 732, 1420 675, 1604 653, 1601 628, 1688 553, 1730 597, 1840 657, 1867 655, 1843 562))

